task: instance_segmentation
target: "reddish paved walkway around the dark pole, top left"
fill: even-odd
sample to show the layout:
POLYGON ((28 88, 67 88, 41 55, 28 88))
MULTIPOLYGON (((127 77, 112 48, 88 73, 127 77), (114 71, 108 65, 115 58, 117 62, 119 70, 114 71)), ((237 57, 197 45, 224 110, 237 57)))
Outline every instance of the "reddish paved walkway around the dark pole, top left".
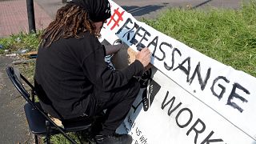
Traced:
MULTIPOLYGON (((0 3, 0 38, 10 34, 18 34, 21 31, 27 33, 26 0, 3 1, 0 3)), ((52 20, 37 2, 34 2, 34 17, 37 29, 45 28, 52 20)))

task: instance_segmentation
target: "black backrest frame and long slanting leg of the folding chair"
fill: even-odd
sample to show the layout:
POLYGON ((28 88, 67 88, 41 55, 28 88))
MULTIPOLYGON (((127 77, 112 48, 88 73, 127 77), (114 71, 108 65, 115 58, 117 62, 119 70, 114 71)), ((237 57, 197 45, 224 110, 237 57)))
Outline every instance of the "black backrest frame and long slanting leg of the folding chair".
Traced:
MULTIPOLYGON (((74 140, 72 138, 70 138, 63 130, 61 127, 57 126, 50 118, 47 114, 44 113, 44 111, 41 109, 41 107, 37 106, 34 103, 34 94, 36 94, 36 91, 34 89, 34 86, 22 75, 18 72, 18 70, 15 70, 14 67, 8 66, 6 68, 6 72, 10 78, 10 81, 14 84, 14 86, 16 87, 16 89, 18 90, 18 92, 20 94, 22 94, 22 97, 26 99, 26 102, 29 102, 31 106, 33 106, 34 109, 38 110, 47 120, 47 122, 54 126, 55 129, 57 129, 58 131, 60 131, 60 133, 62 133, 67 139, 70 140, 70 142, 72 143, 76 143, 74 142, 74 140), (24 88, 24 86, 22 85, 21 80, 23 80, 24 82, 26 82, 26 84, 28 86, 30 86, 31 89, 31 95, 30 93, 24 88)), ((46 122, 46 123, 47 123, 46 122)))

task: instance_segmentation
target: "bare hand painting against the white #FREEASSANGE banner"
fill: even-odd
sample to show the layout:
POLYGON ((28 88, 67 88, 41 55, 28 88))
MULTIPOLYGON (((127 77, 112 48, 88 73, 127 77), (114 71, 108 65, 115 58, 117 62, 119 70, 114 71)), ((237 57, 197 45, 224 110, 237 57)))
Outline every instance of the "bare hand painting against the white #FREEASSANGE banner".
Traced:
POLYGON ((136 59, 142 62, 142 65, 146 67, 150 63, 151 53, 149 48, 145 47, 139 51, 136 55, 136 59))

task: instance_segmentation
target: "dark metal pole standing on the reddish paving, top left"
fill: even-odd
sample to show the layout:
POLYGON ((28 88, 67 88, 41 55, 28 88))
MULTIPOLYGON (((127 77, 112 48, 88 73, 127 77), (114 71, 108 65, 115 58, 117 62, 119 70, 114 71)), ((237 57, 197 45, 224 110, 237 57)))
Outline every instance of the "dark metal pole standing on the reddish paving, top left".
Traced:
POLYGON ((34 22, 34 2, 33 0, 26 0, 27 18, 29 21, 30 33, 36 32, 34 22))

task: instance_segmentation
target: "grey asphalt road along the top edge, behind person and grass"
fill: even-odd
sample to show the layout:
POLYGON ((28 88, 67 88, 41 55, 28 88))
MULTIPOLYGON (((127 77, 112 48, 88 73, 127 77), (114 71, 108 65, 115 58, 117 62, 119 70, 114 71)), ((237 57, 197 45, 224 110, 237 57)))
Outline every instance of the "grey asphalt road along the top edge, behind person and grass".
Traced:
MULTIPOLYGON (((64 6, 61 0, 35 0, 35 2, 38 2, 52 18, 57 9, 64 6)), ((170 7, 190 6, 200 9, 214 6, 238 9, 242 0, 114 0, 114 2, 139 20, 140 18, 156 18, 160 11, 170 7)), ((244 0, 244 2, 250 2, 250 0, 244 0)))

